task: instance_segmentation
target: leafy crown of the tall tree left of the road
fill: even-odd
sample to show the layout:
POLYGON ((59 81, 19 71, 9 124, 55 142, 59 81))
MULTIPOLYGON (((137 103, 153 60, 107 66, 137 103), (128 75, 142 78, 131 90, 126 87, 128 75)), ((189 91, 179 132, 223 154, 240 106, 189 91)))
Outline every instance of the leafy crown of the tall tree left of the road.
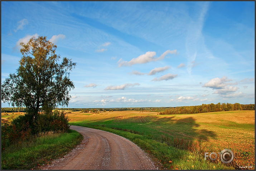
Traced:
POLYGON ((1 100, 26 107, 34 116, 39 107, 50 111, 57 105, 68 105, 69 91, 74 88, 69 73, 76 63, 66 57, 60 62, 57 46, 44 36, 32 37, 20 46, 20 66, 1 85, 1 100))

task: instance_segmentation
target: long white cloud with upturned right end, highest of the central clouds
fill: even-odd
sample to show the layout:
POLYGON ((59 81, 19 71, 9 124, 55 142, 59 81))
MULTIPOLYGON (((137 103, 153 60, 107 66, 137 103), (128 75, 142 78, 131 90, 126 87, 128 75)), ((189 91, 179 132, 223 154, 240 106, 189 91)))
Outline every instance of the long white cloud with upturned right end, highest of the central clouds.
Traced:
POLYGON ((160 57, 154 58, 156 56, 156 52, 151 52, 148 51, 143 55, 138 56, 137 58, 132 58, 131 61, 123 61, 122 58, 118 61, 119 67, 121 66, 132 66, 134 64, 139 64, 139 63, 148 63, 152 61, 158 61, 161 59, 164 59, 164 57, 168 54, 176 54, 177 50, 167 50, 165 51, 160 57))

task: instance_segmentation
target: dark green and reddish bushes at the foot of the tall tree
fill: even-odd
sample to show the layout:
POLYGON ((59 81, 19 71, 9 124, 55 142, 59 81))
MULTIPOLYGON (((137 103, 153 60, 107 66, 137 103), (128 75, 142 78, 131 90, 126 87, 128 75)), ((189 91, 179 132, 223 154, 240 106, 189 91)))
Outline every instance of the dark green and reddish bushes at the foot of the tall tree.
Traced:
POLYGON ((38 114, 37 118, 25 114, 19 115, 12 122, 2 121, 2 149, 4 150, 9 144, 20 143, 48 131, 66 132, 69 129, 68 121, 64 111, 58 112, 58 110, 38 114))

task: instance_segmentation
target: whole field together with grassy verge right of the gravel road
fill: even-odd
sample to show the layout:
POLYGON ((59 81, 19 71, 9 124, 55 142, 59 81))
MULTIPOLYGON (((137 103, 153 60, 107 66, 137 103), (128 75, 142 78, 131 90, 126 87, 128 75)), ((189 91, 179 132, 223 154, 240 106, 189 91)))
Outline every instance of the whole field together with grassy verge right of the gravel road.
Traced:
POLYGON ((73 125, 103 129, 131 139, 156 156, 166 169, 255 168, 255 111, 252 110, 180 115, 72 112, 68 116, 73 125), (144 144, 139 139, 145 141, 144 144), (172 150, 158 148, 157 143, 172 150), (203 160, 204 152, 218 153, 223 149, 235 153, 230 164, 222 164, 219 159, 203 160), (177 151, 183 156, 174 157, 172 154, 177 151))

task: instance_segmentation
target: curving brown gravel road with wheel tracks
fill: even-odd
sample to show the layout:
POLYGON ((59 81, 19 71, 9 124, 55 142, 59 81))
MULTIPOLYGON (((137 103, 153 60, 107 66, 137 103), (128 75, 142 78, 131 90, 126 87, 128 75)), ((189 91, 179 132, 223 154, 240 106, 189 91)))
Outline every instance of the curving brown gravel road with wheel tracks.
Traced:
POLYGON ((133 142, 102 130, 71 126, 84 136, 76 149, 52 165, 51 170, 157 170, 158 166, 133 142))

